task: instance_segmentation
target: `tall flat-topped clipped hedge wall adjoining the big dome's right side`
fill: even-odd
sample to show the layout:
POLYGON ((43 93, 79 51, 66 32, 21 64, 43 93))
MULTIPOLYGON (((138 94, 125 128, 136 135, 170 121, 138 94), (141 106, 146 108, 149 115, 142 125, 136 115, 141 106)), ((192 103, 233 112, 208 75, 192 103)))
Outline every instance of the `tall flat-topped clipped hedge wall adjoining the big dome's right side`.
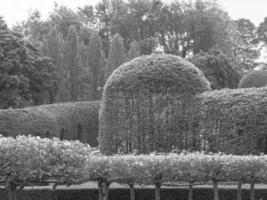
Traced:
POLYGON ((199 150, 267 153, 267 87, 202 93, 191 116, 199 150))

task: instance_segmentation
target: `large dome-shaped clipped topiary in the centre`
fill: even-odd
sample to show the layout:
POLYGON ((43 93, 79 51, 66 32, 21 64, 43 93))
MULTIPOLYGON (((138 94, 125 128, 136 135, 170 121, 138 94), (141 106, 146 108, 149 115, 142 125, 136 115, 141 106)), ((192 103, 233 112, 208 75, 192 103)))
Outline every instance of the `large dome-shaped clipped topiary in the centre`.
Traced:
POLYGON ((202 72, 174 55, 133 59, 108 78, 100 110, 100 149, 111 154, 185 148, 195 94, 210 90, 202 72))

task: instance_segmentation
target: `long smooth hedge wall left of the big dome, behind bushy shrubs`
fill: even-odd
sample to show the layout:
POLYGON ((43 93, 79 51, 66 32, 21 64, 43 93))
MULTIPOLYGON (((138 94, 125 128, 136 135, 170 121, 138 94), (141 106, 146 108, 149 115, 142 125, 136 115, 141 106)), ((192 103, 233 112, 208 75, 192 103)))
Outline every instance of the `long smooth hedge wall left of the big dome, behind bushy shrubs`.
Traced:
POLYGON ((99 102, 50 104, 0 110, 0 134, 80 140, 97 146, 99 102))

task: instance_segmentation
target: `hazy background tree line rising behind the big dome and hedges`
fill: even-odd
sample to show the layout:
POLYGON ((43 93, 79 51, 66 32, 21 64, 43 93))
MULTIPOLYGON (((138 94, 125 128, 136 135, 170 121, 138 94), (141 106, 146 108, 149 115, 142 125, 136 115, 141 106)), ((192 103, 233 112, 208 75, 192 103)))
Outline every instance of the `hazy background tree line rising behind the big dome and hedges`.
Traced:
POLYGON ((195 61, 206 56, 216 61, 207 69, 216 74, 214 88, 236 87, 257 66, 256 47, 267 42, 266 27, 266 20, 259 27, 247 19, 234 21, 212 0, 102 0, 77 10, 56 5, 46 20, 32 12, 13 30, 53 61, 57 90, 41 104, 100 99, 114 69, 153 52, 195 61))

